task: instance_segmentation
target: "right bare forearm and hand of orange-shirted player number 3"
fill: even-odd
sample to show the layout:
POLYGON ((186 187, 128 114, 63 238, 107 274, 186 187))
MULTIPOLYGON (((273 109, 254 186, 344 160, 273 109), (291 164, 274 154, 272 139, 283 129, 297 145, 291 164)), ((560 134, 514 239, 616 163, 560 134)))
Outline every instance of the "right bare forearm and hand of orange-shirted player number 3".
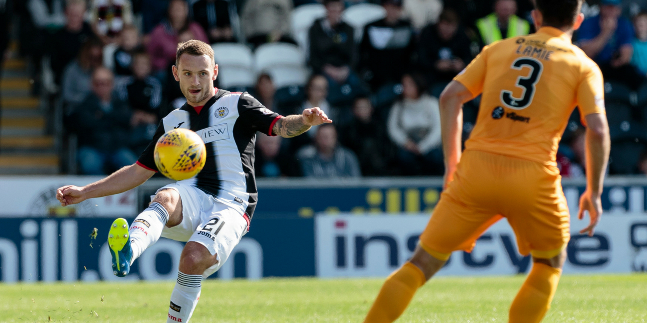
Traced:
POLYGON ((582 220, 584 211, 588 211, 591 222, 580 231, 581 234, 593 236, 595 226, 600 222, 602 202, 600 195, 604 182, 604 172, 609 160, 609 125, 604 114, 594 113, 586 120, 586 191, 580 198, 580 211, 577 217, 582 220))

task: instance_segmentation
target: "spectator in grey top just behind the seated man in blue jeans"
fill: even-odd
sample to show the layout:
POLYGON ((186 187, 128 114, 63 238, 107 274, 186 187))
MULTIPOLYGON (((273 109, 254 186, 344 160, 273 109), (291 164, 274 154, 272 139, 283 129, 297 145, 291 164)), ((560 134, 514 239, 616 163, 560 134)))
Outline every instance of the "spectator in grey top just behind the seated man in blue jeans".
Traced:
POLYGON ((78 58, 65 67, 61 96, 66 108, 78 105, 91 92, 92 73, 102 65, 103 56, 103 44, 93 38, 83 44, 78 58))

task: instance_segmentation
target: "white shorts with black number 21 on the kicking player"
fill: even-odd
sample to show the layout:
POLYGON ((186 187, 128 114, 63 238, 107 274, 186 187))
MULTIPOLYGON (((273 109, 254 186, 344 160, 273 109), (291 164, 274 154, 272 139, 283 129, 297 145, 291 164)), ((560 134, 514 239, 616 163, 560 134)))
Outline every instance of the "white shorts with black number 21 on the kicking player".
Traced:
POLYGON ((173 183, 157 192, 162 189, 174 189, 182 200, 181 224, 171 228, 165 226, 162 236, 182 242, 197 242, 212 255, 217 255, 218 262, 203 273, 204 278, 211 276, 225 264, 249 230, 247 214, 241 212, 240 205, 236 207, 191 185, 173 183))

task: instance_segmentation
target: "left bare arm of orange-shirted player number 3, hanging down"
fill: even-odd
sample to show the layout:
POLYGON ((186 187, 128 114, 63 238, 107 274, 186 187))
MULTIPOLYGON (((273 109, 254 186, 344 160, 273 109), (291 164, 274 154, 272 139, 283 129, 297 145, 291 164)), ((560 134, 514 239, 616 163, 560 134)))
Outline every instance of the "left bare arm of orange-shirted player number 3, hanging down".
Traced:
POLYGON ((441 132, 445 163, 444 185, 454 178, 454 171, 461 160, 461 136, 463 134, 463 103, 474 96, 465 85, 452 81, 443 90, 440 98, 441 132))

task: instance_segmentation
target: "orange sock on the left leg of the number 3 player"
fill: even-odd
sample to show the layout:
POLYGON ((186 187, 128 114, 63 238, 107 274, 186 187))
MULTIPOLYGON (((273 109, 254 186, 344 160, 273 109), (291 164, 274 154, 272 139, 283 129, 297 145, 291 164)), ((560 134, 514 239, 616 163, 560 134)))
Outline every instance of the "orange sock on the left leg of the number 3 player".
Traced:
POLYGON ((364 323, 395 321, 409 305, 415 291, 425 282, 424 273, 417 266, 410 262, 404 263, 400 269, 386 278, 364 323))

